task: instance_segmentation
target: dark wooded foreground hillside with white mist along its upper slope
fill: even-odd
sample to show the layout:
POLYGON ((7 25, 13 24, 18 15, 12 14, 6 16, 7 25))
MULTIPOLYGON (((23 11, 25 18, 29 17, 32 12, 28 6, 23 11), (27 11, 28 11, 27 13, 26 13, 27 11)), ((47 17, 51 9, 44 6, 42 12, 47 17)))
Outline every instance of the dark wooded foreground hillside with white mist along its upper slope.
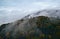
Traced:
POLYGON ((0 39, 60 39, 60 18, 40 13, 1 25, 0 39))

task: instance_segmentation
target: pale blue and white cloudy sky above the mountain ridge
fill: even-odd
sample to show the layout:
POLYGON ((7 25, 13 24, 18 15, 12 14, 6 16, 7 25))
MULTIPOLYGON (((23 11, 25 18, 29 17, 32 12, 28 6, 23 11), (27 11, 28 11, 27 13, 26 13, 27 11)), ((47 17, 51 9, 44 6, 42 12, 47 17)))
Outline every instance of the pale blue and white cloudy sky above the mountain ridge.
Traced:
POLYGON ((60 0, 0 0, 0 24, 11 22, 31 12, 60 7, 60 0))

